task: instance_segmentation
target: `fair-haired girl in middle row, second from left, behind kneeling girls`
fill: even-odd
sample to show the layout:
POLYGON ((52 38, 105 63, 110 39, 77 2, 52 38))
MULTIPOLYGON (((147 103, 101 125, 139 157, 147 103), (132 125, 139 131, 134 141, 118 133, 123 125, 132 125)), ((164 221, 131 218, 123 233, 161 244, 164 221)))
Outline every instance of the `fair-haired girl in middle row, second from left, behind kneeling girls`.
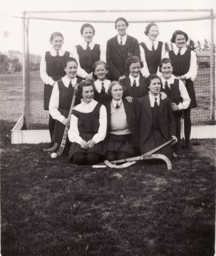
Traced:
POLYGON ((106 62, 96 61, 92 67, 93 79, 97 92, 94 94, 94 99, 100 103, 104 103, 112 97, 107 94, 110 80, 106 79, 108 73, 108 65, 106 62))

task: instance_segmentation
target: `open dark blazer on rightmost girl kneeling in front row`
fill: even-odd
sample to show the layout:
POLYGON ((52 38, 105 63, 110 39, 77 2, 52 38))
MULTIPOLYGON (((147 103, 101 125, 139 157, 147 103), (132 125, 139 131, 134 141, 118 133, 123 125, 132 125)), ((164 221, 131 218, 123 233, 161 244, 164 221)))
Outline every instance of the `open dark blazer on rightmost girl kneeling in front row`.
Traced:
MULTIPOLYGON (((136 125, 139 127, 139 147, 141 147, 151 132, 152 117, 149 95, 139 98, 136 104, 136 125)), ((176 135, 175 122, 172 117, 171 101, 169 98, 161 100, 159 105, 160 131, 168 141, 176 135)))

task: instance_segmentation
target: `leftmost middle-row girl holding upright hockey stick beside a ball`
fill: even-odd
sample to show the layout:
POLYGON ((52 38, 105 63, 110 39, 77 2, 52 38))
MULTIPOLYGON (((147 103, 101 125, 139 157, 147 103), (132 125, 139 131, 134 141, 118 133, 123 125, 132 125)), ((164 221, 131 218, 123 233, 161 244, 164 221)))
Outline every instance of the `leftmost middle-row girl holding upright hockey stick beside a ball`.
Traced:
MULTIPOLYGON (((50 115, 56 120, 54 132, 52 136, 52 142, 57 142, 61 145, 65 126, 67 124, 67 117, 69 115, 69 109, 72 102, 74 90, 77 84, 82 80, 76 78, 78 63, 74 58, 67 58, 63 63, 66 76, 61 80, 58 80, 53 87, 50 98, 50 115)), ((76 98, 75 105, 80 103, 80 99, 76 98)), ((68 149, 67 139, 66 149, 68 149)))

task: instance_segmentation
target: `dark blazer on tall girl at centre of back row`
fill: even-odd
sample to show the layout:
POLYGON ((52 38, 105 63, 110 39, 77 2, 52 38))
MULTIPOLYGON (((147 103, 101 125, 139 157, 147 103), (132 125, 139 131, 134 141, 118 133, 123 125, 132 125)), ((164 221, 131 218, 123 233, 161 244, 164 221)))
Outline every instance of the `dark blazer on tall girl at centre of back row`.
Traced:
POLYGON ((127 35, 127 40, 121 50, 117 36, 107 41, 106 62, 109 66, 112 80, 117 80, 123 75, 128 75, 125 60, 134 55, 140 58, 139 43, 137 39, 127 35))

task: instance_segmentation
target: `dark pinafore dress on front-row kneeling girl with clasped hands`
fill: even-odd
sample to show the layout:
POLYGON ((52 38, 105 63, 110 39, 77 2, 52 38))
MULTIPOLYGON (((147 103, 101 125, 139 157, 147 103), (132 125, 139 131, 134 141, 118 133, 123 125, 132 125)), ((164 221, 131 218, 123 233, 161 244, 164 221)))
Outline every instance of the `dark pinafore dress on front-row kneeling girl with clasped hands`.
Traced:
MULTIPOLYGON (((78 130, 79 130, 79 136, 83 138, 83 140, 88 141, 91 140, 95 134, 98 133, 99 127, 100 127, 100 107, 102 104, 98 103, 94 110, 89 113, 82 113, 77 110, 72 110, 72 115, 76 116, 78 118, 78 130)), ((90 149, 83 149, 80 144, 76 142, 72 142, 70 145, 70 151, 69 151, 69 159, 77 152, 82 153, 90 153, 95 152, 99 155, 105 155, 106 154, 106 145, 105 140, 100 141, 99 143, 96 143, 94 147, 90 149)))

